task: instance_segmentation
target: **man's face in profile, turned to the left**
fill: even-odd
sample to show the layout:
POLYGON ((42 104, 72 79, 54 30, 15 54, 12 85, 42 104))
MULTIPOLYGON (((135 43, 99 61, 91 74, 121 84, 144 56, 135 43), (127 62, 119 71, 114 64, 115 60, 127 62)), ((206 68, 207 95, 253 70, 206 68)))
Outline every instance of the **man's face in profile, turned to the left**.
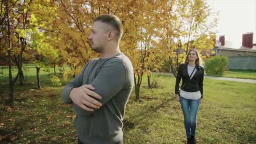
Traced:
POLYGON ((104 45, 106 44, 108 37, 107 27, 108 25, 101 21, 95 21, 93 23, 91 34, 88 37, 91 50, 97 53, 102 53, 104 51, 104 45))

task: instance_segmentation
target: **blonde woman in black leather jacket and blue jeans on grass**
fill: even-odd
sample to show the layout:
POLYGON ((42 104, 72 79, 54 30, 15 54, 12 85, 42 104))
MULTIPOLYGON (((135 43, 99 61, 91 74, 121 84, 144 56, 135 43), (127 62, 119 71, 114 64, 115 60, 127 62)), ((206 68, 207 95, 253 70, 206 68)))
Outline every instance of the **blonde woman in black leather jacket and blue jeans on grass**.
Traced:
POLYGON ((196 117, 200 101, 203 99, 203 61, 196 49, 191 49, 181 64, 176 77, 175 95, 184 114, 187 144, 196 144, 196 117), (182 78, 181 88, 179 83, 182 78))

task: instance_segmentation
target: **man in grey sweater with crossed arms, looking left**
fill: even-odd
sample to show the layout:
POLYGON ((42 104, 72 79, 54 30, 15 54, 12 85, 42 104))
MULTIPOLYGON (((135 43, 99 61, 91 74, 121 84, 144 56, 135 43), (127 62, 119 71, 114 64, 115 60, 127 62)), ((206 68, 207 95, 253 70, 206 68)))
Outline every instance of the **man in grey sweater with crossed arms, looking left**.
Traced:
POLYGON ((131 61, 119 49, 122 34, 117 16, 94 19, 88 40, 101 58, 89 61, 62 91, 62 100, 75 109, 78 144, 123 142, 122 121, 134 81, 131 61))

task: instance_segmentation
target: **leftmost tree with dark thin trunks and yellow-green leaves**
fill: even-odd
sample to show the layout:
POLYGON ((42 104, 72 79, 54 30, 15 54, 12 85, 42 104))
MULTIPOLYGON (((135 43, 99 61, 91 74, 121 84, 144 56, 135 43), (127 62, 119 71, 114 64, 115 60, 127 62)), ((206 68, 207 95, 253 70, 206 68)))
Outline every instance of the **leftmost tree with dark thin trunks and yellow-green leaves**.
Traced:
MULTIPOLYGON (((3 4, 3 1, 1 1, 3 4)), ((0 37, 0 45, 3 45, 3 53, 7 52, 8 57, 8 67, 9 67, 9 88, 10 88, 10 104, 13 105, 13 97, 14 97, 14 84, 18 77, 20 77, 21 85, 24 83, 24 76, 22 72, 22 61, 24 60, 23 54, 25 53, 25 48, 28 48, 33 39, 32 34, 39 32, 38 27, 43 27, 41 24, 49 23, 49 21, 41 21, 41 24, 33 25, 37 21, 42 19, 35 19, 37 17, 43 17, 42 14, 45 13, 37 13, 37 15, 33 14, 34 12, 42 11, 42 9, 35 11, 38 9, 38 4, 41 5, 41 8, 45 8, 45 11, 48 12, 48 16, 50 16, 51 11, 48 8, 47 1, 18 1, 18 0, 4 0, 4 11, 5 15, 1 17, 3 22, 1 22, 1 37, 0 37), (43 5, 43 6, 42 6, 43 5), (48 9, 48 10, 47 10, 48 9), (4 19, 5 17, 5 19, 4 19), (7 44, 3 43, 3 39, 7 37, 7 44), (18 73, 13 78, 12 77, 12 65, 15 64, 18 73)), ((1 5, 3 6, 3 5, 1 5)), ((3 8, 1 7, 1 14, 3 8)), ((2 16, 2 15, 1 15, 2 16)), ((1 49, 2 50, 2 49, 1 49)), ((2 51, 1 51, 2 52, 2 51)))

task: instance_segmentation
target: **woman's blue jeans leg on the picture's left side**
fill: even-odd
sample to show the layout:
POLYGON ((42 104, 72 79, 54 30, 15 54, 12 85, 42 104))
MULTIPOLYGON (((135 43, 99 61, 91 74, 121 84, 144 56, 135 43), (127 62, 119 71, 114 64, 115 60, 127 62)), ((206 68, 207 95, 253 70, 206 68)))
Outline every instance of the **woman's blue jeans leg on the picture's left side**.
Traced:
POLYGON ((182 96, 180 96, 181 108, 184 115, 184 125, 185 125, 188 139, 190 139, 191 137, 191 131, 189 126, 189 101, 190 101, 189 99, 185 99, 182 96))

